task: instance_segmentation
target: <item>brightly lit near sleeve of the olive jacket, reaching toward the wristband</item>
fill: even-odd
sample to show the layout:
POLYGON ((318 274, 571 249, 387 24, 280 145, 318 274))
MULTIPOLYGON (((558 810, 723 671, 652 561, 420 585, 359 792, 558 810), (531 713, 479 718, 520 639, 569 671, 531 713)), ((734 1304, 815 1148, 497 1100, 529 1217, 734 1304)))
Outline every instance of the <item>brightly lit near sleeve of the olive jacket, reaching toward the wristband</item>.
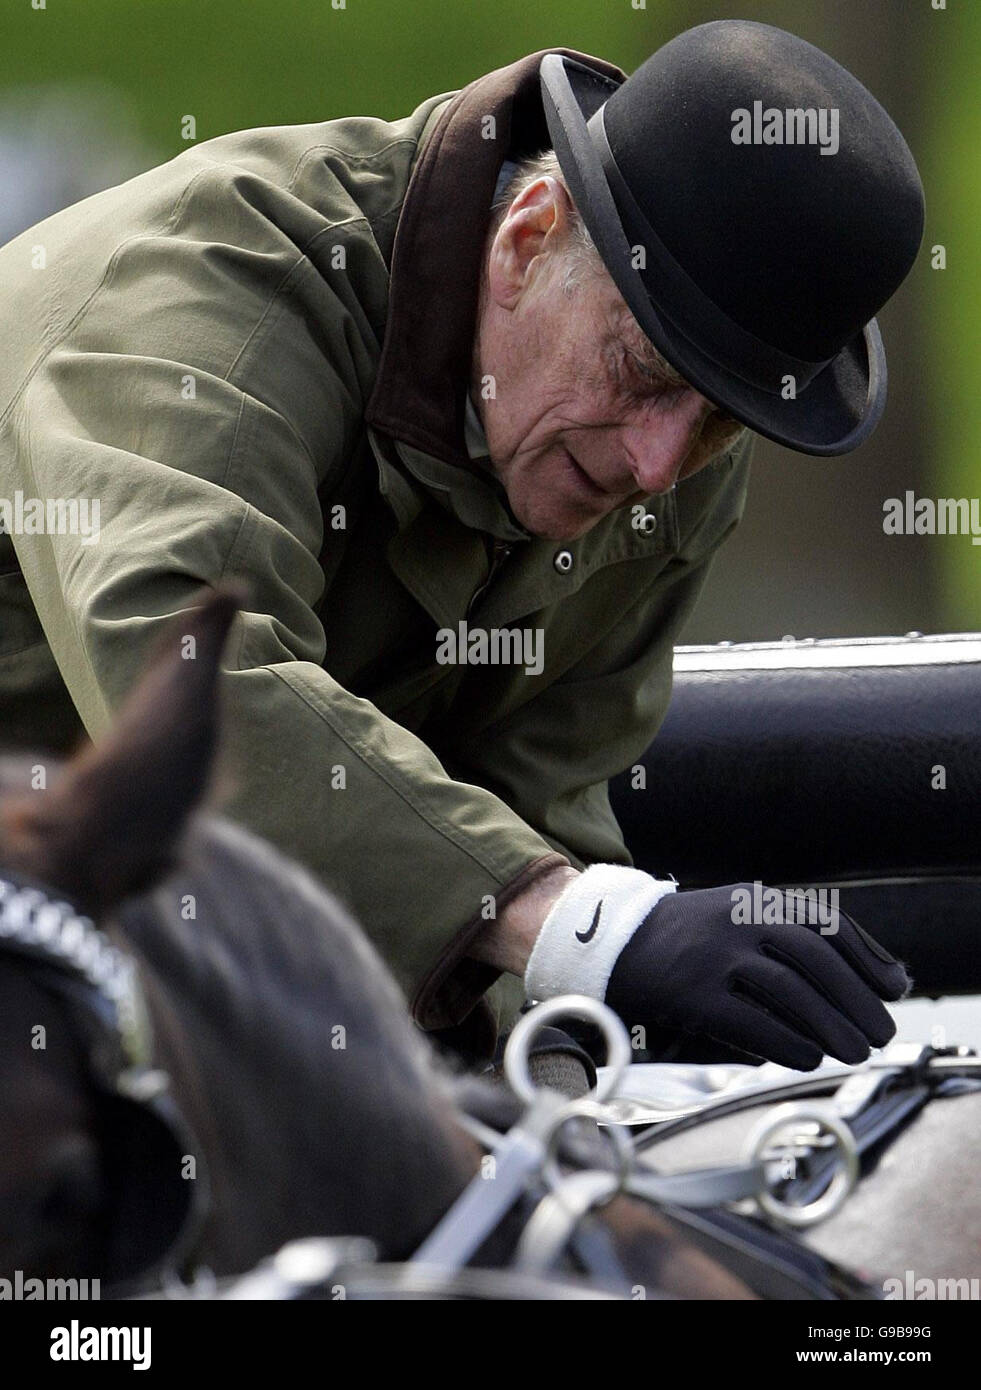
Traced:
POLYGON ((97 264, 85 224, 60 214, 28 235, 57 264, 43 291, 25 288, 31 245, 4 250, 7 310, 47 317, 0 417, 0 467, 11 489, 99 505, 97 539, 15 538, 92 735, 200 585, 249 581, 225 657, 226 809, 333 887, 414 992, 474 903, 561 859, 321 667, 318 489, 357 442, 371 329, 331 282, 329 245, 317 264, 278 234, 260 182, 235 175, 229 195, 204 171, 97 264))

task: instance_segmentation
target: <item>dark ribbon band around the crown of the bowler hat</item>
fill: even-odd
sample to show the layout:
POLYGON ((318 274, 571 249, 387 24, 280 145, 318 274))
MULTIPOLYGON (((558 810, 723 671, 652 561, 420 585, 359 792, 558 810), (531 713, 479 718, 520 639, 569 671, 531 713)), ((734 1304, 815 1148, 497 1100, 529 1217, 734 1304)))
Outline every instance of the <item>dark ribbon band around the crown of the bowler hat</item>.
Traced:
MULTIPOLYGON (((648 271, 654 270, 659 289, 664 292, 664 299, 659 295, 656 303, 652 300, 657 311, 670 318, 675 328, 685 334, 692 345, 710 357, 716 366, 739 377, 748 385, 771 395, 780 395, 785 386, 785 378, 793 377, 796 391, 803 391, 820 371, 824 371, 835 360, 834 356, 825 357, 823 361, 793 357, 761 338, 756 338, 755 334, 746 332, 735 320, 729 318, 678 264, 636 203, 613 157, 603 122, 603 107, 589 118, 586 131, 599 154, 620 214, 624 222, 629 224, 632 236, 639 238, 648 271)), ((627 225, 624 225, 624 231, 627 231, 627 225)), ((632 261, 624 268, 642 279, 645 293, 650 297, 648 281, 639 275, 632 261)))

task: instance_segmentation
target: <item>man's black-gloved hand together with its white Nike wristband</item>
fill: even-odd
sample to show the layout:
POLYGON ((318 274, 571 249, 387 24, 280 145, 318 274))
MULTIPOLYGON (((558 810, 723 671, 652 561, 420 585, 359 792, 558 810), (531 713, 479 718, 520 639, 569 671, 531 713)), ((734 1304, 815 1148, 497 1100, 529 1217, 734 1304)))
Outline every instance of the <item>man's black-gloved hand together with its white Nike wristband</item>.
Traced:
POLYGON ((903 966, 843 912, 824 926, 738 920, 736 888, 675 892, 638 869, 595 865, 546 917, 525 973, 531 998, 579 991, 628 1027, 698 1033, 810 1070, 884 1047, 903 966))

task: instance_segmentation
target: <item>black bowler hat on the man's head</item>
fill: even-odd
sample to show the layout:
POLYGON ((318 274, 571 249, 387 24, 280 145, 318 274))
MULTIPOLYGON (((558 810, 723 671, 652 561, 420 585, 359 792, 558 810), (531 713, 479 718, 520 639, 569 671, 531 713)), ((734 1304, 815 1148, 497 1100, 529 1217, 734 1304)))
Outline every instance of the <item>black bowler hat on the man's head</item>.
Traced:
POLYGON ((871 93, 813 44, 743 19, 688 29, 623 83, 557 53, 541 79, 572 200, 667 361, 800 453, 867 439, 885 406, 874 314, 924 218, 913 156, 871 93))

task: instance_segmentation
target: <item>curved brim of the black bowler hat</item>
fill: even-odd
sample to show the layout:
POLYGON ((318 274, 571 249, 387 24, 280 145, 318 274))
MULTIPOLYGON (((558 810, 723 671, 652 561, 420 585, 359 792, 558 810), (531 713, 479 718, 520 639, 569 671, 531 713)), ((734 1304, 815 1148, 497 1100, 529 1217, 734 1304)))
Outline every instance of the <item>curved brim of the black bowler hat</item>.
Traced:
POLYGON ((639 271, 586 121, 618 83, 547 53, 542 60, 542 104, 559 165, 603 264, 638 324, 696 391, 742 424, 799 453, 850 453, 878 424, 887 371, 875 320, 845 345, 796 399, 761 391, 721 367, 659 310, 639 271))

